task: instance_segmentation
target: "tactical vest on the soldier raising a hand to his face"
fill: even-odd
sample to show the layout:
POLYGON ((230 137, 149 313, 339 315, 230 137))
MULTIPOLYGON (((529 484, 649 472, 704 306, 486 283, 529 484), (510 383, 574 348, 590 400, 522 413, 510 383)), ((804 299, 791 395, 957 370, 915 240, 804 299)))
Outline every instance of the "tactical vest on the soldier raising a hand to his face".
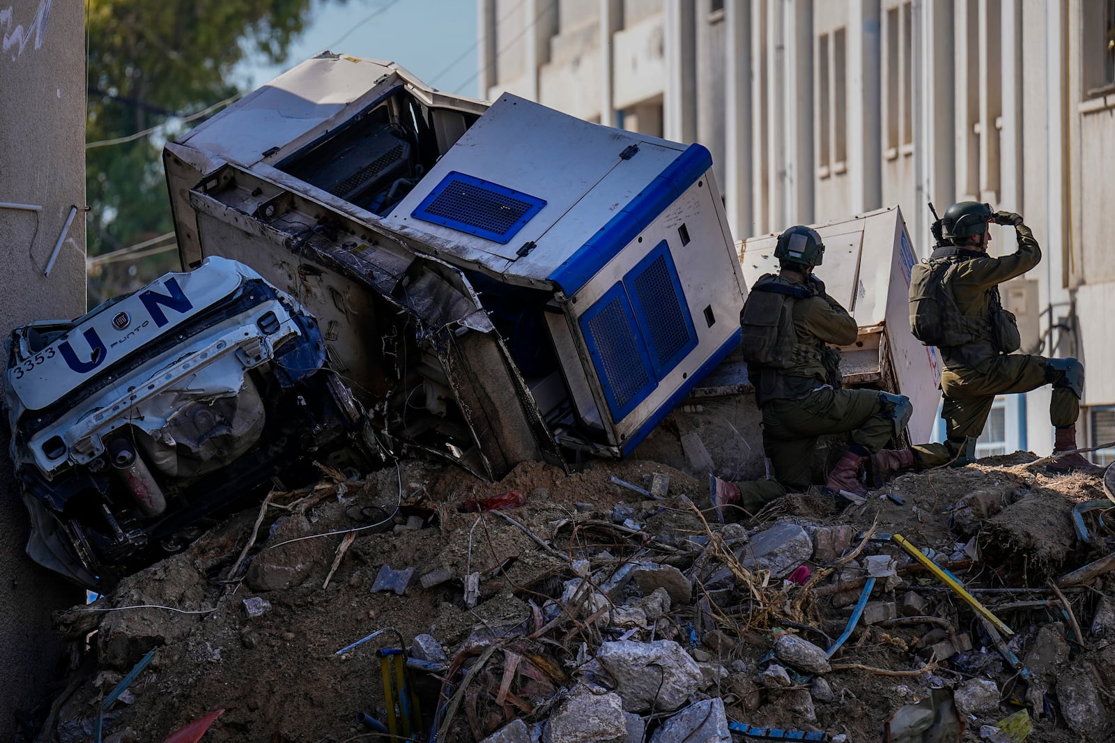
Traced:
MULTIPOLYGON (((978 257, 982 253, 946 245, 910 270, 910 331, 925 346, 949 348, 992 340, 990 318, 962 315, 952 296, 950 281, 958 266, 978 257)), ((999 289, 990 291, 995 292, 992 306, 998 306, 999 289)))

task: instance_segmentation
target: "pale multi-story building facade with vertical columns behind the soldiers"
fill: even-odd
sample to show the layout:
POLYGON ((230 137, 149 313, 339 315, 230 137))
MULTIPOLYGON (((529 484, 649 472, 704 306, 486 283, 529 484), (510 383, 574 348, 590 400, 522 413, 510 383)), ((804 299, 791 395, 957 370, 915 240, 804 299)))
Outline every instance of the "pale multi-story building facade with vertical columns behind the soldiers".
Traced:
MULTIPOLYGON (((737 239, 899 204, 1025 215, 1044 259, 1004 301, 1088 369, 1115 441, 1115 0, 478 0, 482 95, 712 152, 737 239)), ((992 253, 1014 240, 995 228, 992 253)), ((1048 389, 997 402, 981 453, 1053 445, 1048 389)), ((1101 461, 1115 460, 1115 451, 1101 461)))

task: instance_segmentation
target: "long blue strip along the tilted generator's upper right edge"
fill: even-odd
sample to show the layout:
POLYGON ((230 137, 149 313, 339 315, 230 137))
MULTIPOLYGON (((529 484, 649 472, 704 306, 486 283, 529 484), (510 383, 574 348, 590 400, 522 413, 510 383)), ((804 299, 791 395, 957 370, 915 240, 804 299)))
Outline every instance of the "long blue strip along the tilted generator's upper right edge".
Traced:
POLYGON ((710 167, 712 155, 708 149, 699 144, 689 145, 608 224, 559 266, 550 274, 550 280, 568 295, 575 292, 710 167))

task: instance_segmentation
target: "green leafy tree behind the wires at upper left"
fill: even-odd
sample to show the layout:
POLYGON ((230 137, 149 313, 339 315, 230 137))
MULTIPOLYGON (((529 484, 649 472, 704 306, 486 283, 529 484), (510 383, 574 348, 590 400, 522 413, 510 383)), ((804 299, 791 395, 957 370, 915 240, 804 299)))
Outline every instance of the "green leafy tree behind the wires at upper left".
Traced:
MULTIPOLYGON (((328 0, 317 0, 317 3, 328 0)), ((345 0, 339 0, 343 2, 345 0)), ((129 137, 86 152, 89 254, 173 230, 161 151, 200 123, 182 118, 234 96, 234 67, 281 62, 306 27, 314 0, 89 0, 86 141, 129 137)), ((90 302, 177 267, 164 252, 106 263, 90 276, 90 302), (140 270, 137 271, 136 268, 140 270)))

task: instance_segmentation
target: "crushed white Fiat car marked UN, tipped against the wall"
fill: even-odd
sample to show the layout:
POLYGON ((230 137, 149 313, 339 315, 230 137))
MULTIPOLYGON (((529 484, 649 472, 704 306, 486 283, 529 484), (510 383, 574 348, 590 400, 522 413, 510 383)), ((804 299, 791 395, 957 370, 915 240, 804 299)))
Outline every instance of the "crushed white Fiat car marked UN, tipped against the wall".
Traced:
POLYGON ((88 588, 180 549, 272 477, 362 446, 313 319, 220 257, 18 328, 9 354, 28 554, 88 588))

